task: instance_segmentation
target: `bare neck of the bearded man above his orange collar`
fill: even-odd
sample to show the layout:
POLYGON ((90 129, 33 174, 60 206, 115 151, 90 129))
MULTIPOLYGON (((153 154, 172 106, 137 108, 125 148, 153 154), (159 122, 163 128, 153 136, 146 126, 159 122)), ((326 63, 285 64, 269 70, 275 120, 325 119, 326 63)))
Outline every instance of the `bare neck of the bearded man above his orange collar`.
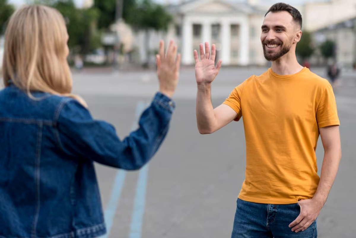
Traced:
POLYGON ((301 66, 295 54, 293 55, 284 55, 281 58, 272 61, 271 69, 274 73, 279 75, 289 75, 295 74, 301 71, 304 67, 301 66))

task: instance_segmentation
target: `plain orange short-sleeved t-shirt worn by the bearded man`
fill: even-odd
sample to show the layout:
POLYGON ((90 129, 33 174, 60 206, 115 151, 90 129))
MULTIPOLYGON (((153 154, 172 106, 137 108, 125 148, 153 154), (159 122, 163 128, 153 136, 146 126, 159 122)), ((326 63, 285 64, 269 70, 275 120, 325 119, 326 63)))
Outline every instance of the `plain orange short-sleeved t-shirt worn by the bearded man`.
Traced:
POLYGON ((319 128, 340 125, 330 83, 308 68, 278 75, 271 68, 237 86, 224 104, 243 117, 246 175, 239 198, 289 204, 318 187, 319 128))

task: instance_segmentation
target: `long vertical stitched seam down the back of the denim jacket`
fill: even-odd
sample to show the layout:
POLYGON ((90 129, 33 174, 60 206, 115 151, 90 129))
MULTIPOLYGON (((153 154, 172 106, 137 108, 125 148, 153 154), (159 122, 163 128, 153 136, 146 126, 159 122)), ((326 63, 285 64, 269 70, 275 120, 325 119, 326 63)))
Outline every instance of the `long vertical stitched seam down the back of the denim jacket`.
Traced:
POLYGON ((38 216, 40 215, 40 163, 41 163, 41 147, 42 147, 42 124, 38 125, 38 138, 37 138, 37 148, 36 148, 36 162, 35 162, 35 181, 36 181, 36 212, 33 217, 32 223, 32 236, 36 237, 38 216))

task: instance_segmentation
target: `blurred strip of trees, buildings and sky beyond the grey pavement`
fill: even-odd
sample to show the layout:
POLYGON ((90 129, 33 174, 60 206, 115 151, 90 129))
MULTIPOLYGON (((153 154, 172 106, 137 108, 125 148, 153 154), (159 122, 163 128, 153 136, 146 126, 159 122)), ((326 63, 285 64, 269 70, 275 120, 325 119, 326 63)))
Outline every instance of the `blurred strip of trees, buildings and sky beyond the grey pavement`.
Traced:
MULTIPOLYGON (((66 18, 72 66, 152 67, 157 42, 174 39, 192 65, 200 42, 215 43, 225 65, 266 66, 261 22, 272 0, 0 0, 0 60, 6 21, 21 4, 41 3, 66 18)), ((355 68, 354 0, 287 0, 303 16, 301 63, 355 68)))

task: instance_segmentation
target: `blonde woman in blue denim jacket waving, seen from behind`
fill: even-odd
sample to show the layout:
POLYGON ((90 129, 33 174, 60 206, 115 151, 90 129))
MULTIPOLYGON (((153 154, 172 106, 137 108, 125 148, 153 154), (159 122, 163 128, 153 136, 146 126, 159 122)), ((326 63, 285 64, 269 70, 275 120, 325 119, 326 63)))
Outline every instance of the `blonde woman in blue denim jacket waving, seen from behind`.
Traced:
POLYGON ((105 234, 93 162, 140 169, 167 134, 180 56, 171 41, 157 55, 159 92, 139 128, 120 140, 72 95, 62 15, 25 6, 5 32, 0 91, 0 237, 90 238, 105 234))

